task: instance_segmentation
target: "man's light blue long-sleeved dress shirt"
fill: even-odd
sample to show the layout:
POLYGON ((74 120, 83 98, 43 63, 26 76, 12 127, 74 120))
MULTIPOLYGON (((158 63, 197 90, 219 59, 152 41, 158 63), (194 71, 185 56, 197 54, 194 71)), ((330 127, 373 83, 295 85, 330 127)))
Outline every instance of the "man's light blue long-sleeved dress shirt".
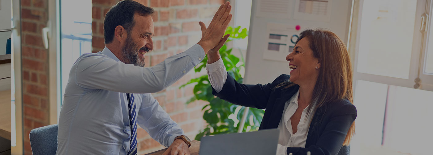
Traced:
POLYGON ((131 129, 126 93, 134 93, 137 124, 165 147, 184 131, 149 93, 176 82, 203 60, 196 44, 153 67, 121 62, 107 47, 83 54, 69 73, 58 123, 57 155, 126 155, 131 129))

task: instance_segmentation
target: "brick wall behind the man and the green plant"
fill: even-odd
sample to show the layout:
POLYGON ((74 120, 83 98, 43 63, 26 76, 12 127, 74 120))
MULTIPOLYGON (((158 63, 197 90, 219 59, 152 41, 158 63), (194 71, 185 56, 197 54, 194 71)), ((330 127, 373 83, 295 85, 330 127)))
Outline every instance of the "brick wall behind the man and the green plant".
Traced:
MULTIPOLYGON (((102 51, 103 44, 103 18, 108 9, 119 0, 93 0, 92 8, 92 52, 102 51)), ((224 0, 137 0, 145 6, 155 9, 153 19, 155 22, 154 51, 146 54, 146 67, 154 66, 165 58, 185 51, 200 40, 201 32, 199 21, 209 24, 214 13, 224 0)), ((186 135, 194 139, 205 122, 201 108, 203 101, 186 105, 185 102, 193 95, 194 85, 179 89, 179 86, 191 78, 204 75, 189 72, 162 92, 153 96, 159 101, 162 108, 170 114, 186 135)), ((137 132, 139 154, 163 149, 164 146, 153 140, 145 130, 139 128, 137 132)))

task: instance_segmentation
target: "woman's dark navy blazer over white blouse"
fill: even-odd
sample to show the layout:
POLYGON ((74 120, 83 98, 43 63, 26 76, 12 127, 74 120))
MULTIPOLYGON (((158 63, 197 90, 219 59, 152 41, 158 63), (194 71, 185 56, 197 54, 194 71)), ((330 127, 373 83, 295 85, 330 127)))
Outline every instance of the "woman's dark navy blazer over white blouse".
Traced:
MULTIPOLYGON (((228 74, 223 89, 213 95, 233 104, 266 109, 259 130, 274 129, 278 127, 283 115, 284 104, 299 89, 293 86, 289 89, 274 89, 276 85, 290 78, 289 75, 282 74, 272 83, 266 85, 245 85, 236 82, 228 74)), ((337 155, 349 154, 348 147, 342 147, 347 131, 356 118, 356 108, 348 100, 327 103, 318 108, 311 120, 308 130, 305 148, 288 147, 287 154, 306 155, 310 151, 312 155, 337 155)))

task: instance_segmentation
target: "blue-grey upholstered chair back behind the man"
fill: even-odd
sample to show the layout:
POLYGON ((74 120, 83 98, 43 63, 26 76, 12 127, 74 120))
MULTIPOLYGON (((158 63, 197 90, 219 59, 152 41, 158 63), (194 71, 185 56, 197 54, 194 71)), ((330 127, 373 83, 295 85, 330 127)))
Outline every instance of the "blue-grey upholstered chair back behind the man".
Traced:
POLYGON ((30 131, 30 145, 33 155, 55 155, 57 130, 58 124, 53 124, 30 131))

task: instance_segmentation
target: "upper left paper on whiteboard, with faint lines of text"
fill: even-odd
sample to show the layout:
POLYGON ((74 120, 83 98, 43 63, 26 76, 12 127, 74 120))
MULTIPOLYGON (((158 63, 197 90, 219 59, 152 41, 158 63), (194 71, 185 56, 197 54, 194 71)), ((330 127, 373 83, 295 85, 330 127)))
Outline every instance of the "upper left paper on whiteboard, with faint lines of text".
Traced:
POLYGON ((292 0, 257 0, 257 17, 290 19, 292 0))

